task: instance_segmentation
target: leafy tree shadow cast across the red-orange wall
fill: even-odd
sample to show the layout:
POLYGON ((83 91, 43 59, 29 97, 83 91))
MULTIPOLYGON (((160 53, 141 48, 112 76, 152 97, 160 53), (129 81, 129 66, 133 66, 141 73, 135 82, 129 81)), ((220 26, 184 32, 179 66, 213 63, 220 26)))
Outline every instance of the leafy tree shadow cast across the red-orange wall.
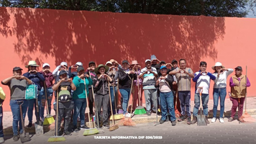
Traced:
POLYGON ((144 63, 154 54, 168 62, 185 58, 195 71, 202 57, 217 58, 214 44, 225 34, 223 17, 1 8, 3 11, 5 19, 14 14, 13 26, 6 26, 3 20, 1 25, 12 28, 11 34, 18 39, 15 53, 24 64, 35 58, 35 52, 41 53, 36 58, 40 65, 45 57, 55 57, 56 65, 92 60, 100 64, 111 58, 144 63))

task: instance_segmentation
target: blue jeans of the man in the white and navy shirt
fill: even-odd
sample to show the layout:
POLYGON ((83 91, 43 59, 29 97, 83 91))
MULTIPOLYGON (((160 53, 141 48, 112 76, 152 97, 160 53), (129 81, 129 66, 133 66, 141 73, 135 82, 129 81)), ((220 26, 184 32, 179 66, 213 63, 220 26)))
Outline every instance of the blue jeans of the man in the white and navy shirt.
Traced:
MULTIPOLYGON (((208 115, 208 101, 209 101, 209 94, 202 93, 202 104, 203 104, 203 113, 204 115, 208 115)), ((193 115, 198 115, 198 109, 200 107, 200 94, 195 93, 195 107, 193 110, 193 115)))

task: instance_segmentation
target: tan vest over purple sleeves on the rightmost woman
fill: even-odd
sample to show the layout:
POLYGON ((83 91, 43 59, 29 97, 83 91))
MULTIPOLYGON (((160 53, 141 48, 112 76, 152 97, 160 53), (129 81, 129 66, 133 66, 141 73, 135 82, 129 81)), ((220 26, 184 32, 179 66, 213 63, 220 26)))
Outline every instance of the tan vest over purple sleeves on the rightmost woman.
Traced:
POLYGON ((241 81, 239 83, 238 78, 236 75, 231 77, 233 79, 233 83, 240 84, 240 86, 231 87, 231 97, 232 98, 244 98, 246 94, 246 87, 243 85, 246 84, 246 77, 245 75, 241 75, 241 81))

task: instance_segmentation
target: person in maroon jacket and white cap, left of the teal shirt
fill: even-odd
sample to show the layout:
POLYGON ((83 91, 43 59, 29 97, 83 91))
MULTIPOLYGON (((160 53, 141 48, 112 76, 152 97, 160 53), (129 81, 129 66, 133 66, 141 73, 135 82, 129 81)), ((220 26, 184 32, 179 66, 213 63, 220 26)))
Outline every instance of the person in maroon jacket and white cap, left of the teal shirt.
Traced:
MULTIPOLYGON (((46 85, 46 92, 47 92, 47 104, 48 104, 48 109, 49 109, 49 114, 51 114, 51 106, 52 106, 52 95, 53 95, 53 90, 52 90, 52 81, 54 80, 54 77, 52 75, 52 72, 50 70, 50 65, 48 63, 43 64, 43 69, 41 71, 41 74, 44 75, 45 78, 45 85, 46 85)), ((44 93, 42 95, 42 102, 41 102, 41 118, 42 121, 44 121, 44 107, 46 105, 45 100, 45 92, 44 92, 44 87, 42 87, 41 91, 44 93)))

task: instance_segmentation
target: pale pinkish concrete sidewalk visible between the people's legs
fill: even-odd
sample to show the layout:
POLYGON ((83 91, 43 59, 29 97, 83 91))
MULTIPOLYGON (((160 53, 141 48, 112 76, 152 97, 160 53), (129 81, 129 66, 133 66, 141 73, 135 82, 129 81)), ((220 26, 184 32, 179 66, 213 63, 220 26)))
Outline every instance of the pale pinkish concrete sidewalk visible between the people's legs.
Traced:
MULTIPOLYGON (((145 107, 145 106, 144 106, 145 107)), ((213 107, 213 100, 209 100, 208 102, 208 110, 209 110, 209 118, 212 118, 212 107, 213 107)), ((225 110, 224 110, 224 117, 229 117, 231 113, 231 107, 232 107, 232 101, 230 101, 229 98, 225 100, 225 110)), ((194 108, 194 101, 191 101, 191 111, 193 111, 194 108)), ((217 112, 217 118, 219 116, 219 110, 220 106, 218 104, 218 112, 217 112)), ((245 111, 245 105, 244 105, 244 111, 245 111)), ((247 98, 247 112, 250 115, 256 115, 256 97, 248 97, 247 98)), ((35 112, 33 112, 34 114, 35 112)), ((44 112, 46 115, 46 111, 44 112)), ((55 111, 52 109, 52 115, 55 115, 55 111)), ((85 121, 88 121, 87 119, 87 109, 86 109, 86 119, 85 121)), ((158 119, 160 119, 161 116, 158 116, 158 119)), ((33 123, 35 122, 36 118, 35 115, 33 115, 33 123)), ((152 113, 151 116, 148 115, 134 115, 132 120, 136 124, 143 124, 143 123, 149 123, 152 121, 156 121, 156 114, 152 113)), ((29 124, 28 117, 26 115, 25 118, 25 126, 29 124)), ((89 125, 87 123, 87 125, 89 125)), ((50 126, 44 126, 44 132, 47 132, 51 129, 54 129, 54 124, 50 126)), ((35 127, 26 128, 27 132, 35 133, 35 127)), ((12 135, 12 112, 3 112, 3 132, 5 135, 12 135)))

